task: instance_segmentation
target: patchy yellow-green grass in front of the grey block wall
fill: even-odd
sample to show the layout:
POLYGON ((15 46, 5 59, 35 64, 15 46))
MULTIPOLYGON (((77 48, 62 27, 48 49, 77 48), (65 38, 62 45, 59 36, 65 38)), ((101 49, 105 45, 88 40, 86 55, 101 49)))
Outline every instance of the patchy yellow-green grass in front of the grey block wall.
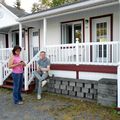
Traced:
MULTIPOLYGON (((3 93, 9 95, 11 90, 0 88, 0 94, 3 93)), ((120 115, 112 107, 101 106, 95 102, 52 93, 43 93, 40 101, 36 100, 35 93, 23 96, 27 103, 36 103, 34 110, 46 111, 56 120, 120 120, 120 115)))

